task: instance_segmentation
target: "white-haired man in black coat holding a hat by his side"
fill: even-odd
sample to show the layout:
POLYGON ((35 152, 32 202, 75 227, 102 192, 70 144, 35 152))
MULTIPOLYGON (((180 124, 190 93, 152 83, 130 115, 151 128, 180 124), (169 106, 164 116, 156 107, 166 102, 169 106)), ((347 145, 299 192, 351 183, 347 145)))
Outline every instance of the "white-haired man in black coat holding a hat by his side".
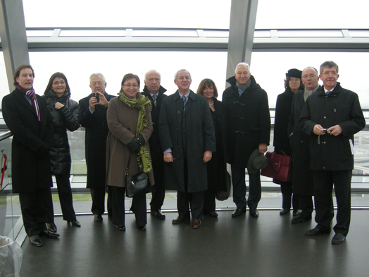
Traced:
POLYGON ((239 63, 234 77, 223 92, 227 109, 228 142, 227 163, 231 165, 233 202, 237 209, 232 217, 240 216, 249 206, 250 215, 258 217, 261 199, 260 172, 249 173, 249 197, 246 202, 245 168, 255 149, 265 153, 270 140, 270 113, 268 95, 255 81, 247 63, 239 63))

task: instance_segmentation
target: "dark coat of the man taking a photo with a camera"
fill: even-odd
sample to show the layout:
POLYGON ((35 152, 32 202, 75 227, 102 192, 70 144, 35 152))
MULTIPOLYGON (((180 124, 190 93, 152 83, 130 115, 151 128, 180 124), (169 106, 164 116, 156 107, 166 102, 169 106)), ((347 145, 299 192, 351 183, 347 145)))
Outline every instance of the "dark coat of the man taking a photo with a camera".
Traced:
MULTIPOLYGON (((106 100, 110 101, 113 95, 104 92, 106 100)), ((87 165, 87 187, 105 187, 106 183, 106 137, 109 128, 106 122, 105 106, 96 105, 94 113, 89 111, 88 97, 80 99, 80 123, 86 128, 85 153, 87 165)))

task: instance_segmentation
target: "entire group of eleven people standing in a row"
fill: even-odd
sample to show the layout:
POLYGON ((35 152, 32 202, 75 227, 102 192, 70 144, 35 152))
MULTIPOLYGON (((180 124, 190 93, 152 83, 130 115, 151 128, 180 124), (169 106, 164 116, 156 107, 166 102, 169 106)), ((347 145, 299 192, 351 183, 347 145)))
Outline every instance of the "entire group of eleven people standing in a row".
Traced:
MULTIPOLYGON (((294 166, 292 182, 275 180, 283 196, 280 214, 287 214, 292 204, 292 223, 311 219, 314 195, 318 225, 306 235, 330 233, 334 184, 338 211, 332 243, 341 243, 349 230, 353 136, 365 126, 358 96, 340 87, 338 66, 331 61, 320 66, 320 75, 308 67, 302 72, 289 70, 286 76, 286 91, 277 98, 274 146, 275 152, 292 155, 294 166)), ((245 213, 246 206, 251 216, 258 217, 261 178, 254 159, 268 149, 270 113, 268 95, 247 63, 236 66, 222 101, 211 79, 202 80, 196 93, 190 90, 192 78, 185 69, 175 73, 178 90, 169 96, 156 70, 146 73, 141 93, 139 77, 124 75, 118 97, 107 94, 104 75, 94 73, 89 78, 92 93, 79 104, 70 99, 63 73, 51 76, 43 97, 35 94, 34 77, 32 66, 17 68, 15 90, 2 101, 4 121, 13 133, 13 192, 19 193, 32 245, 42 246, 40 237, 59 236, 52 174, 63 219, 80 227, 70 189, 67 136, 67 130, 80 125, 85 128, 87 187, 95 222, 103 221, 107 192, 108 216, 118 230, 125 230, 127 169, 130 176, 147 174, 153 216, 165 218, 161 211, 165 190, 175 190, 178 216, 172 223, 192 217, 192 228, 200 228, 203 214, 218 216, 215 193, 227 191, 226 163, 231 165, 237 207, 232 217, 245 213)), ((146 230, 146 195, 132 197, 130 210, 137 228, 146 230)))

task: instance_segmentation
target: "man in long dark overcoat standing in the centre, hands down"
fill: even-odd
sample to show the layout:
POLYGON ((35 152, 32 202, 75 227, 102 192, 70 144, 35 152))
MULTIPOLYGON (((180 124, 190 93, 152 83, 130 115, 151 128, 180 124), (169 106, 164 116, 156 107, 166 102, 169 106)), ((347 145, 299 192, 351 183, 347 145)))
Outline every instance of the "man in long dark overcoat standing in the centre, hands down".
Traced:
POLYGON ((187 70, 175 74, 178 90, 166 97, 159 117, 159 136, 164 151, 164 183, 177 190, 177 224, 192 214, 192 228, 201 226, 206 163, 215 152, 213 120, 205 97, 189 90, 192 79, 187 70))

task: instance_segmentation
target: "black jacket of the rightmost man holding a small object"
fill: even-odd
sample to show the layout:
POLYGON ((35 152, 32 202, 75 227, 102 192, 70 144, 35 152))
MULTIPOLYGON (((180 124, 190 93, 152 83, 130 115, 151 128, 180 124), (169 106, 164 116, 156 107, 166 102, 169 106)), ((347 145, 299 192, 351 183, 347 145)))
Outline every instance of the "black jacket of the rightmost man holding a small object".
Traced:
POLYGON ((361 110, 358 94, 339 85, 326 95, 321 87, 311 94, 301 112, 299 124, 304 133, 310 135, 310 168, 320 171, 342 171, 354 169, 354 155, 351 154, 349 140, 354 143, 354 134, 363 130, 365 118, 361 110), (315 135, 316 124, 323 128, 339 125, 340 135, 315 135), (319 139, 319 140, 318 140, 319 139))

